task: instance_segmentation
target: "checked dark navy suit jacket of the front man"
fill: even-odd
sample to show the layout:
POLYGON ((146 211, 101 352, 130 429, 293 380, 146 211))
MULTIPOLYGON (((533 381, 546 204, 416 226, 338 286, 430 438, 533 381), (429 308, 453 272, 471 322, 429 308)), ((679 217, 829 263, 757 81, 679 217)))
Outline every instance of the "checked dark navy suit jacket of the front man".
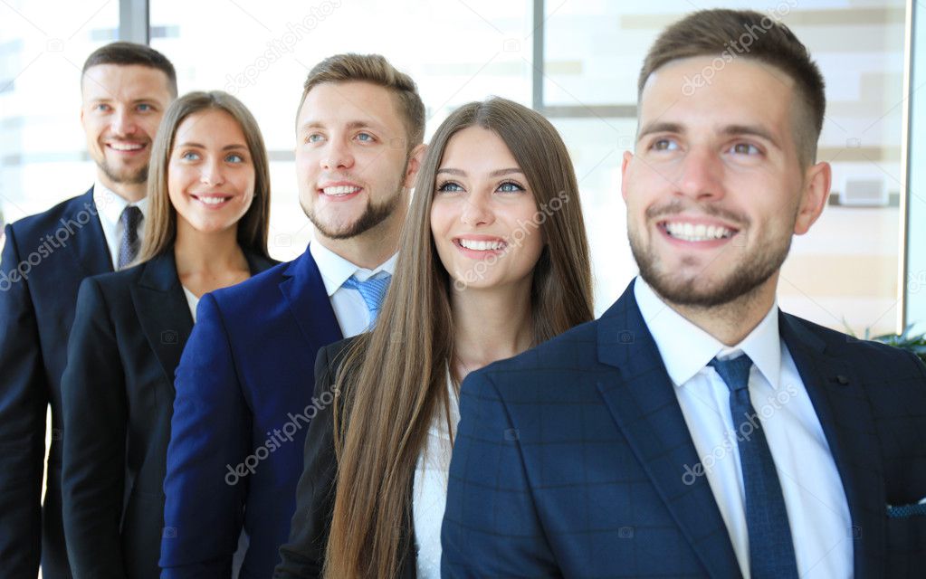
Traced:
MULTIPOLYGON (((842 477, 855 576, 914 576, 926 517, 886 505, 926 496, 926 368, 792 315, 779 325, 842 477)), ((707 477, 683 476, 698 456, 672 388, 632 287, 599 320, 470 374, 444 577, 739 577, 707 477)))

